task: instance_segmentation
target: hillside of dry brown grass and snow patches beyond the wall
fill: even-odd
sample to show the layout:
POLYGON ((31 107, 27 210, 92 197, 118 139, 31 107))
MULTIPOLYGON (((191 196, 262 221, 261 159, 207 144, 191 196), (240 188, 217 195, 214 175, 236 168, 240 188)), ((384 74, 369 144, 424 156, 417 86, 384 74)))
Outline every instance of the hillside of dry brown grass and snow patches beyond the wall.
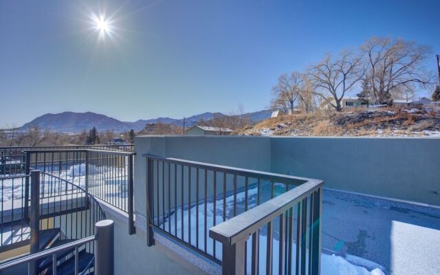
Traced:
POLYGON ((318 111, 270 118, 243 135, 440 136, 440 111, 419 109, 318 111))

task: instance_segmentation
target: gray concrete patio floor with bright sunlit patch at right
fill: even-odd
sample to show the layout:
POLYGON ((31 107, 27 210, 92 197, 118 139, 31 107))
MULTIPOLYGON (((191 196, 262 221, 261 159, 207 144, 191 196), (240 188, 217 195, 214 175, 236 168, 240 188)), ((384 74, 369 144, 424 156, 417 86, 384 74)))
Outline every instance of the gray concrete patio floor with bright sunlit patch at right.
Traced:
POLYGON ((440 274, 439 208, 325 190, 322 213, 327 252, 386 274, 440 274))

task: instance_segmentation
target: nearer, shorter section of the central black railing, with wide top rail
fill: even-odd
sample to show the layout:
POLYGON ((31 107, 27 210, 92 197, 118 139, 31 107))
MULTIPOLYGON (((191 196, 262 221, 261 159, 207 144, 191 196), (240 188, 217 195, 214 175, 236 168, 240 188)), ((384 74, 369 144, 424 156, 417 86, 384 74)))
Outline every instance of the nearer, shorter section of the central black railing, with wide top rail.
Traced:
POLYGON ((309 180, 210 228, 222 274, 320 274, 322 185, 309 180))

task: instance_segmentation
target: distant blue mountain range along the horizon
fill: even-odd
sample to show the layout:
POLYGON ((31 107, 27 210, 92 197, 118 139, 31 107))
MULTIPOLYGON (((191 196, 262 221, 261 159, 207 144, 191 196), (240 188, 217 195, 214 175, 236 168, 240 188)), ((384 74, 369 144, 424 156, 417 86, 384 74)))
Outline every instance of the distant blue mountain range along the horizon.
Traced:
MULTIPOLYGON (((270 118, 271 113, 271 110, 263 110, 245 113, 244 115, 248 117, 251 122, 257 123, 270 118)), ((185 126, 189 127, 197 124, 200 120, 208 121, 212 120, 212 118, 221 116, 225 115, 223 113, 206 112, 185 118, 185 122, 183 119, 176 118, 153 118, 149 120, 136 120, 135 122, 123 122, 99 113, 75 113, 65 111, 63 113, 46 113, 45 115, 41 115, 31 122, 25 123, 19 128, 19 130, 29 129, 38 125, 40 129, 50 129, 52 131, 64 133, 76 133, 83 130, 89 130, 93 127, 96 127, 98 131, 129 131, 130 129, 140 131, 144 129, 144 126, 147 123, 164 123, 176 126, 183 126, 185 123, 185 126)))

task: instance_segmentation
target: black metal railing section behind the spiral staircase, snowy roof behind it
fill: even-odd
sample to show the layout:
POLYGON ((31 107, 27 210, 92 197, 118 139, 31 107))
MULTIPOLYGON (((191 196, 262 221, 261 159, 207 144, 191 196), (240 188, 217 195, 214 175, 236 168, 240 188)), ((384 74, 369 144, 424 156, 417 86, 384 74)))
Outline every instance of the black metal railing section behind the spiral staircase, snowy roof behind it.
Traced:
POLYGON ((94 197, 129 214, 129 234, 134 228, 134 153, 92 149, 25 151, 28 169, 56 175, 80 186, 94 197))

